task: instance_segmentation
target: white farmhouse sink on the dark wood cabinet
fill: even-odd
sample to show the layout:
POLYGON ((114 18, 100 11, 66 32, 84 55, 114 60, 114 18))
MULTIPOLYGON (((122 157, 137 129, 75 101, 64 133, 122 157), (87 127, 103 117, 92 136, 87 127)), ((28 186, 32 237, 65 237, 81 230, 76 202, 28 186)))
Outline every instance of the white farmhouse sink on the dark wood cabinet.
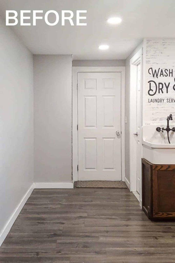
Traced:
MULTIPOLYGON (((174 127, 173 122, 169 122, 170 128, 174 127)), ((153 164, 175 164, 175 134, 169 132, 168 143, 167 132, 156 131, 156 127, 166 128, 165 125, 143 125, 142 126, 142 145, 143 158, 153 164)))

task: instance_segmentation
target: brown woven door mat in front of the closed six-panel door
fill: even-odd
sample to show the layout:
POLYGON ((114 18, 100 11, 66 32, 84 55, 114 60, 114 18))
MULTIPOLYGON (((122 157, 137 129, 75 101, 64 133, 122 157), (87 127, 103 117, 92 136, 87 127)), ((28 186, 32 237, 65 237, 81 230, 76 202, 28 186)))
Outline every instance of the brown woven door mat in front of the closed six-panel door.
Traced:
POLYGON ((77 181, 80 188, 127 188, 123 181, 77 181))

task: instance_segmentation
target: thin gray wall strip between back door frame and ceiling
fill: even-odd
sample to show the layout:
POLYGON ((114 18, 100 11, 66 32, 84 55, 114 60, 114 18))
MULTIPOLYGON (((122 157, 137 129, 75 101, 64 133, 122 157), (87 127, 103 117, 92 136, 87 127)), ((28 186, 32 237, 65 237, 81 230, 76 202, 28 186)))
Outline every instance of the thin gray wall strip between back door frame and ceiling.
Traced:
POLYGON ((79 67, 122 67, 125 66, 125 60, 73 60, 72 66, 79 67))

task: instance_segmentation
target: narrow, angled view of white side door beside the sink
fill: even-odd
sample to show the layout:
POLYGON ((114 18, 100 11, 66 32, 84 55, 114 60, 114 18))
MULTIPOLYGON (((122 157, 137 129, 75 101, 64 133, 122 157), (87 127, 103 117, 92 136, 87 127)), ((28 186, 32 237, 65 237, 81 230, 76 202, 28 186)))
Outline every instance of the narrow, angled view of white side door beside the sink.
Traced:
POLYGON ((141 127, 140 127, 140 80, 141 80, 141 64, 137 64, 137 114, 136 114, 136 130, 137 130, 137 139, 136 139, 136 152, 137 152, 137 181, 136 181, 136 189, 137 192, 140 194, 140 171, 141 171, 141 147, 140 147, 140 140, 141 140, 141 127))

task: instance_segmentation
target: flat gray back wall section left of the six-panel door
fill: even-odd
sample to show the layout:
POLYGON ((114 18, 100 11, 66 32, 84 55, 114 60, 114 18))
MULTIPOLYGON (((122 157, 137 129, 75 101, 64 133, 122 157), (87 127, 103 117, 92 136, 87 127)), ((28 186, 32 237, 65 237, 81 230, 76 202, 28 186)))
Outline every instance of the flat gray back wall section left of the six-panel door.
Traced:
POLYGON ((34 55, 34 182, 71 182, 72 56, 34 55))

